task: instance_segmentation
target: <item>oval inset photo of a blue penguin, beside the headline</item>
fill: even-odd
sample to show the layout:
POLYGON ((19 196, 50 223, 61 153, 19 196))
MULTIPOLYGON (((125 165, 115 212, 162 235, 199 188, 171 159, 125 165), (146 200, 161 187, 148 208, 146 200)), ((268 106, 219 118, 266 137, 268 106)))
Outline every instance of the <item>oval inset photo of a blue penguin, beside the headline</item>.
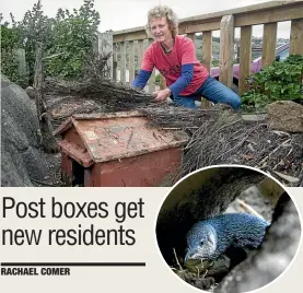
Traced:
POLYGON ((178 181, 156 220, 170 269, 208 292, 240 293, 281 276, 301 239, 300 214, 283 186, 246 166, 211 166, 178 181))

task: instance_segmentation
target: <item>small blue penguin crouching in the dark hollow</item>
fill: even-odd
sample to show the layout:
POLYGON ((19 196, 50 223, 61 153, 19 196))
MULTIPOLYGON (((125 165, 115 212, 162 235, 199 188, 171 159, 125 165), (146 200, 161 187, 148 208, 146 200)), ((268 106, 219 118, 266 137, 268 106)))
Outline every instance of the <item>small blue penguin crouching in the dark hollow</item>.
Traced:
POLYGON ((199 221, 187 234, 189 259, 215 259, 229 247, 257 248, 269 225, 265 220, 247 213, 226 213, 199 221))

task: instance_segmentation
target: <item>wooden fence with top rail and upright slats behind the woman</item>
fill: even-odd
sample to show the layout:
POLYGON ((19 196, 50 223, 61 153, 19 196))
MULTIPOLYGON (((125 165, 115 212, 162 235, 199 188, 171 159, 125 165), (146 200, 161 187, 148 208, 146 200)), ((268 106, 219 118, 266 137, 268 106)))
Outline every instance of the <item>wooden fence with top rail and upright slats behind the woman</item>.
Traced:
MULTIPOLYGON (((179 34, 186 34, 195 39, 196 33, 202 33, 202 65, 210 71, 212 59, 212 32, 220 30, 220 75, 219 80, 229 87, 233 85, 234 28, 241 28, 240 40, 240 79, 238 87, 245 91, 244 80, 250 73, 252 61, 252 27, 264 24, 263 34, 263 67, 270 65, 276 58, 278 22, 291 21, 290 54, 303 55, 303 1, 271 1, 245 8, 238 8, 217 13, 208 13, 179 20, 179 34)), ((144 26, 113 32, 113 78, 126 82, 126 48, 128 47, 129 81, 139 70, 144 47, 152 43, 144 26), (148 43, 148 44, 147 44, 148 43), (117 67, 119 48, 120 62, 117 67), (137 67, 135 67, 135 59, 137 67)), ((155 72, 149 81, 149 92, 155 89, 155 72)))

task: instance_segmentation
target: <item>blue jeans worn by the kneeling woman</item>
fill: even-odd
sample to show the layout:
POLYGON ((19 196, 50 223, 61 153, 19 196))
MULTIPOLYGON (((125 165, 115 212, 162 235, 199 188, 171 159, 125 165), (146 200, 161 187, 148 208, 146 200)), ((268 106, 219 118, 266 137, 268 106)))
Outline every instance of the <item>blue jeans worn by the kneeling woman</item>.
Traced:
POLYGON ((211 77, 208 77, 205 83, 193 95, 176 96, 173 99, 175 105, 184 106, 186 108, 196 108, 195 101, 197 97, 201 96, 214 104, 228 104, 234 109, 237 109, 241 106, 240 96, 223 83, 211 77))

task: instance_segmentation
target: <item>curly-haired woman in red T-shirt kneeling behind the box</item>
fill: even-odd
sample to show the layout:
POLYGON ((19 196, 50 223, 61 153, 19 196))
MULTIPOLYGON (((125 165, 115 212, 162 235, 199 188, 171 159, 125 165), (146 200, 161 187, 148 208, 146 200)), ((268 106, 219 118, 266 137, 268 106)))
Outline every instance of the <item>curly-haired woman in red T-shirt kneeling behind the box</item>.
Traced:
POLYGON ((167 86, 153 93, 156 102, 171 97, 176 105, 196 108, 195 99, 203 96, 237 109, 240 96, 209 75, 197 60, 193 40, 177 35, 177 30, 178 21, 172 9, 159 5, 149 11, 147 32, 155 42, 147 49, 131 86, 143 89, 155 67, 165 78, 167 86))

